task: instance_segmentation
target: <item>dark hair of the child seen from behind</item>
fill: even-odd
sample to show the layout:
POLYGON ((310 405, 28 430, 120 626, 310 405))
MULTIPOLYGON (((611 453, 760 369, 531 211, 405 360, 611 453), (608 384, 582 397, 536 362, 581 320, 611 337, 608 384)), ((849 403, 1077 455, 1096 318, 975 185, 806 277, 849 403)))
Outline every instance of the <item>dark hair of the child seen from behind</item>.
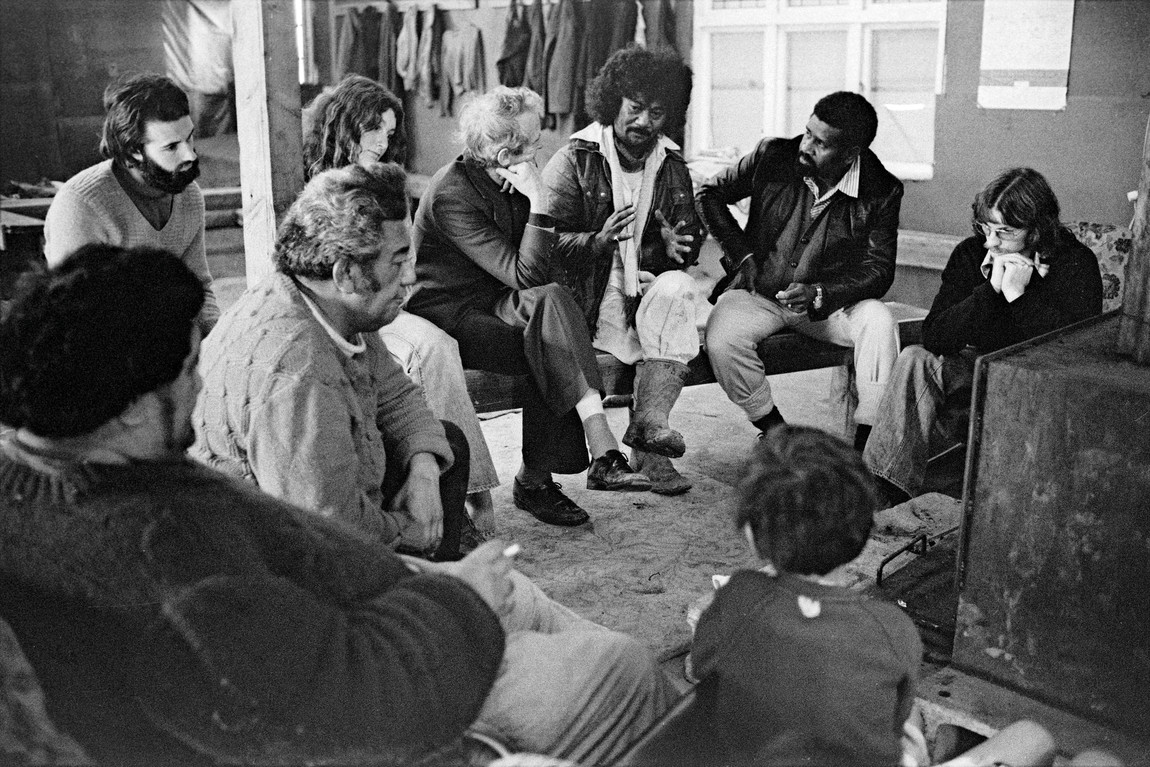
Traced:
POLYGON ((735 524, 780 570, 826 575, 861 553, 876 506, 874 480, 843 439, 779 425, 756 445, 735 524))

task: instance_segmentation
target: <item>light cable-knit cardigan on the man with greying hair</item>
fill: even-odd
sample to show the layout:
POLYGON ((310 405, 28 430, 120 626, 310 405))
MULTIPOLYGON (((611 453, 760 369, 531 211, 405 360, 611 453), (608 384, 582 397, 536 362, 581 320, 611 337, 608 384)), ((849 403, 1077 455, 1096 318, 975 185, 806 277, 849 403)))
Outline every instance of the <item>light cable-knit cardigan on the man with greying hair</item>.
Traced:
POLYGON ((345 354, 282 274, 250 289, 200 348, 192 457, 264 492, 339 516, 393 544, 405 522, 383 508, 389 461, 453 460, 442 424, 378 333, 345 354))

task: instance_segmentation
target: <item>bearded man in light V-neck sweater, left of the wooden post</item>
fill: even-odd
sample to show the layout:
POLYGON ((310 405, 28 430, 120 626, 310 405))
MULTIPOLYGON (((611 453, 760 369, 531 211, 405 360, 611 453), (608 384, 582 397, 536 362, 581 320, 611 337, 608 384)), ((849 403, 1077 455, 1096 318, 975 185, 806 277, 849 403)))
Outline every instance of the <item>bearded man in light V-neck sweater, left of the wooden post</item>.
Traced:
POLYGON ((167 77, 136 75, 103 93, 100 154, 56 192, 44 221, 48 266, 87 243, 171 251, 204 285, 198 323, 205 336, 220 317, 204 247, 204 193, 195 184, 187 95, 167 77))

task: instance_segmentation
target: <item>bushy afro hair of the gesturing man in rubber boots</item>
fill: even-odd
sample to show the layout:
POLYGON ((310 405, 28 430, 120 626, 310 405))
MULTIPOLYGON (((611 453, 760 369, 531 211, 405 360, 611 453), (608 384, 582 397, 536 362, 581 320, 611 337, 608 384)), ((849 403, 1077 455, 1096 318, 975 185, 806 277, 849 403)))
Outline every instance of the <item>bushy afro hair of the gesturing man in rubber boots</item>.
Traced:
POLYGON ((680 133, 691 102, 691 68, 670 48, 652 51, 631 44, 613 53, 586 86, 586 109, 610 125, 619 116, 623 97, 642 95, 667 109, 664 132, 680 133))

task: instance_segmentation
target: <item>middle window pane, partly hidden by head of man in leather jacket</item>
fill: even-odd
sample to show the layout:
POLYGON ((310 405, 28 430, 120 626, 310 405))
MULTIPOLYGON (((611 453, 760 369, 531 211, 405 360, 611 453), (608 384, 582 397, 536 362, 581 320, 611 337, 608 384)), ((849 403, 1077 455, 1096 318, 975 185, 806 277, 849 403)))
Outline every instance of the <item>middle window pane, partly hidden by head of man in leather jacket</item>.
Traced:
POLYGON ((843 90, 846 30, 787 33, 787 136, 802 133, 814 102, 843 90))

